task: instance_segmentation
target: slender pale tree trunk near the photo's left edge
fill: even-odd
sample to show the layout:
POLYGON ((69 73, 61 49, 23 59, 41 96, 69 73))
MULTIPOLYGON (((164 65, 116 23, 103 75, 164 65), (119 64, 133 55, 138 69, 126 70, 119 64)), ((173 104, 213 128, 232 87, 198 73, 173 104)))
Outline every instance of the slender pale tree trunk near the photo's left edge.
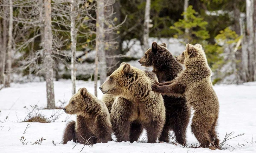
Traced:
POLYGON ((13 7, 12 0, 9 0, 9 31, 8 31, 8 49, 7 49, 7 70, 6 70, 6 87, 11 84, 11 71, 12 71, 12 29, 13 29, 13 7))

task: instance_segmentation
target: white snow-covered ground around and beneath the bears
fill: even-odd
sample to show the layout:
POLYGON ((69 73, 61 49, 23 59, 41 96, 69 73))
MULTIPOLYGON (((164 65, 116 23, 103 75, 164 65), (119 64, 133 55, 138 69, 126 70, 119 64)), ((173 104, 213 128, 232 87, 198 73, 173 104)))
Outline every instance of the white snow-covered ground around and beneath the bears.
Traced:
MULTIPOLYGON (((56 105, 60 106, 58 100, 68 103, 71 97, 71 81, 61 80, 55 82, 55 100, 56 105)), ((94 92, 93 82, 77 81, 77 89, 85 87, 91 93, 94 92)), ((222 141, 226 133, 234 132, 233 136, 245 133, 241 137, 228 140, 227 150, 212 151, 207 148, 184 148, 172 143, 147 144, 142 142, 108 142, 107 144, 95 144, 93 147, 85 146, 83 153, 207 153, 207 152, 234 152, 234 153, 256 153, 256 82, 245 83, 243 85, 216 85, 214 86, 220 102, 219 126, 218 132, 222 141), (252 142, 254 141, 254 143, 252 142), (244 144, 245 146, 241 145, 244 144), (237 147, 238 146, 238 147, 237 147)), ((98 91, 98 97, 102 93, 98 91)), ((66 145, 59 144, 62 140, 63 130, 66 119, 75 119, 75 116, 66 115, 62 110, 45 110, 46 107, 46 89, 45 82, 34 82, 25 84, 11 84, 11 88, 0 91, 0 153, 35 153, 35 152, 55 152, 55 153, 78 153, 83 145, 74 142, 68 142, 66 145), (52 114, 60 114, 60 117, 54 123, 32 123, 24 133, 27 123, 20 123, 27 116, 24 108, 30 105, 38 104, 42 109, 41 114, 51 117, 52 114), (6 119, 6 117, 8 118, 6 119), (18 122, 19 121, 19 122, 18 122), (27 145, 22 145, 18 140, 24 136, 27 145), (31 145, 43 137, 41 145, 31 145), (52 140, 56 143, 53 146, 52 140), (75 146, 75 148, 73 148, 75 146), (73 149, 72 149, 73 148, 73 149)), ((144 132, 140 140, 146 138, 144 132)), ((187 130, 188 145, 196 144, 196 138, 191 134, 190 127, 187 130)))

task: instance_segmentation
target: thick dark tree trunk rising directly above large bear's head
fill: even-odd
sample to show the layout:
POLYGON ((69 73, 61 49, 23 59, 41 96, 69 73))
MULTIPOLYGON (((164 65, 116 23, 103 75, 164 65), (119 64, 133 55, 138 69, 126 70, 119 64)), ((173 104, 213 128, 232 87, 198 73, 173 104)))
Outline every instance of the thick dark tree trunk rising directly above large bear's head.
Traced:
MULTIPOLYGON (((105 11, 105 16, 110 16, 110 20, 116 20, 116 25, 120 24, 120 0, 117 0, 113 5, 107 6, 107 11, 105 11), (111 15, 112 7, 114 9, 115 14, 111 15)), ((106 56, 106 63, 107 63, 107 75, 111 75, 120 65, 120 58, 111 57, 113 55, 121 54, 122 43, 120 34, 117 34, 117 31, 105 33, 105 40, 108 43, 107 50, 105 51, 106 56)))

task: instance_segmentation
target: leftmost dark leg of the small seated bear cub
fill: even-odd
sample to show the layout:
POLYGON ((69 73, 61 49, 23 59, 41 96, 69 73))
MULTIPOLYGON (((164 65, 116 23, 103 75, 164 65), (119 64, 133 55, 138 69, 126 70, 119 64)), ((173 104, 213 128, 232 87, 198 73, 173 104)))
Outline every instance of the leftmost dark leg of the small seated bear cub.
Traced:
POLYGON ((64 134, 63 134, 63 139, 62 139, 62 144, 67 144, 68 141, 73 140, 76 142, 76 122, 75 121, 70 121, 65 128, 64 134))

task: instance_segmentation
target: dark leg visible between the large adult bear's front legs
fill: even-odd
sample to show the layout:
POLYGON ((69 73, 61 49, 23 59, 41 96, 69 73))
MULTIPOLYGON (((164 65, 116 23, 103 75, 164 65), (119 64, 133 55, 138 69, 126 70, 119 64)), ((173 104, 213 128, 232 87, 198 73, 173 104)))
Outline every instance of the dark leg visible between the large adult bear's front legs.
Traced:
POLYGON ((143 131, 142 125, 139 121, 133 121, 130 125, 130 142, 137 141, 143 131))

